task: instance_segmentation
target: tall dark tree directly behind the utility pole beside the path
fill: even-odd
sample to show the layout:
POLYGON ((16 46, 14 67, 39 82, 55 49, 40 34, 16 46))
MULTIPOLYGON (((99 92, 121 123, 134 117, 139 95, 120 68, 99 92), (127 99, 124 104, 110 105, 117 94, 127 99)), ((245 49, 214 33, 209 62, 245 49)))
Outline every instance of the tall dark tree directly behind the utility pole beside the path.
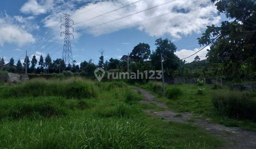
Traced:
POLYGON ((150 55, 151 63, 155 70, 161 70, 161 53, 163 56, 163 64, 166 71, 177 70, 179 64, 179 58, 174 54, 177 47, 168 38, 166 39, 156 39, 155 41, 156 50, 150 55), (166 58, 166 57, 168 58, 166 58))

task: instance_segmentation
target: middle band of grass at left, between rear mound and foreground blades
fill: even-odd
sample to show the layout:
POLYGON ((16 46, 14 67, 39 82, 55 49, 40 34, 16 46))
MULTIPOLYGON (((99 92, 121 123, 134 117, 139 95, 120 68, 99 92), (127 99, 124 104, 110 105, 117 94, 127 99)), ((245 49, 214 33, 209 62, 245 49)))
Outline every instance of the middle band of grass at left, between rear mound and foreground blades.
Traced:
POLYGON ((68 115, 70 110, 85 109, 87 106, 86 100, 67 100, 62 97, 1 99, 0 119, 60 117, 68 115))

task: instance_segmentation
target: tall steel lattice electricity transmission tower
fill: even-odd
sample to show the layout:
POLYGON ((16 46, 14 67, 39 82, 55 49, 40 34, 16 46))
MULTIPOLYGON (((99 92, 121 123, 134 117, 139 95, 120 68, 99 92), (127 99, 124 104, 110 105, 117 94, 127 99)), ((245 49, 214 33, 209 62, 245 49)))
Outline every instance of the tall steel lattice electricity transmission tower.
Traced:
POLYGON ((62 19, 65 20, 64 24, 60 25, 60 29, 62 29, 62 26, 65 27, 65 31, 60 32, 60 36, 62 36, 62 34, 65 34, 65 38, 64 38, 64 45, 63 45, 63 53, 62 53, 62 59, 65 61, 65 64, 69 64, 70 61, 73 61, 73 55, 72 55, 72 50, 71 50, 71 41, 70 41, 70 36, 73 36, 74 39, 74 35, 72 34, 72 32, 74 32, 74 21, 71 20, 71 16, 67 13, 63 13, 63 17, 60 18, 60 21, 62 21, 62 19), (70 23, 72 22, 72 23, 70 23), (70 32, 70 28, 73 29, 72 32, 70 32))

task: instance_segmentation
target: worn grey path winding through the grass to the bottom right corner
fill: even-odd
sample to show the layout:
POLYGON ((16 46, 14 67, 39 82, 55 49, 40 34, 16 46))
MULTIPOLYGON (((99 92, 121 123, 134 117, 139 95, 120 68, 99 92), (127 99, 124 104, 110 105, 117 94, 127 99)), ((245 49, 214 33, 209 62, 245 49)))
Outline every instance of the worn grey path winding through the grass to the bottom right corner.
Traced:
MULTIPOLYGON (((146 90, 140 88, 135 89, 145 96, 145 99, 140 101, 141 103, 155 104, 157 106, 167 108, 165 103, 157 102, 157 98, 146 90)), ((194 125, 200 126, 206 129, 213 136, 217 136, 218 138, 225 140, 226 144, 224 148, 256 149, 256 132, 246 131, 236 127, 225 127, 223 125, 209 123, 208 120, 192 119, 193 114, 191 113, 177 113, 169 110, 145 110, 145 112, 160 116, 165 121, 191 122, 194 125)))

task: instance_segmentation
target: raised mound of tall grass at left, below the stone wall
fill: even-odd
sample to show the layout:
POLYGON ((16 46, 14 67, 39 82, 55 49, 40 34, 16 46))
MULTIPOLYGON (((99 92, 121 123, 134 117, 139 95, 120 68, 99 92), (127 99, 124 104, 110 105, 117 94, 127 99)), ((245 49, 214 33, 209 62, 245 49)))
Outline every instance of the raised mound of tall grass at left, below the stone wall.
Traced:
POLYGON ((13 86, 0 88, 1 98, 63 96, 66 98, 90 98, 96 96, 95 85, 83 79, 46 80, 32 79, 13 86))

